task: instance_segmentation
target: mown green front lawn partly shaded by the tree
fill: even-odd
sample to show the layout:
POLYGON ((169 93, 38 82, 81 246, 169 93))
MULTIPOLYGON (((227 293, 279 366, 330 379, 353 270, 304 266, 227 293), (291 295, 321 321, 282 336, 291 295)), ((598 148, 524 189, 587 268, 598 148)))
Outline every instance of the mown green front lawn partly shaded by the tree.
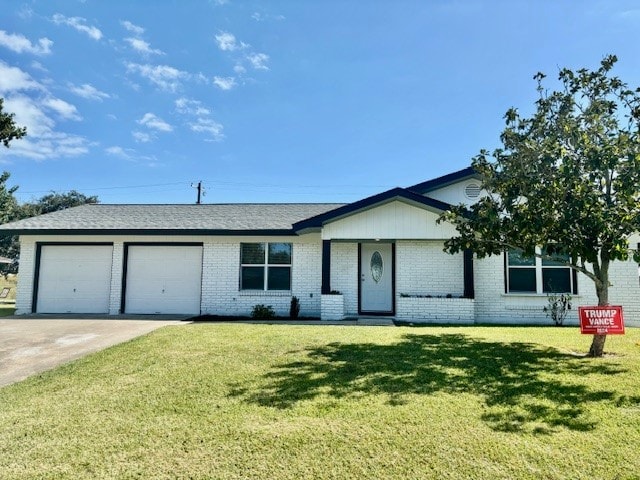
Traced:
POLYGON ((0 389, 0 477, 640 478, 640 329, 166 327, 0 389))

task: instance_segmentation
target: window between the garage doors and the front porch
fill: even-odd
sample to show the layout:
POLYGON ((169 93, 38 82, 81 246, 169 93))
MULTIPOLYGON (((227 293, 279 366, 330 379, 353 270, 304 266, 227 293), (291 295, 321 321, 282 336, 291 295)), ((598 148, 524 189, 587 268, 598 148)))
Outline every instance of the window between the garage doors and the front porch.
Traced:
POLYGON ((291 244, 241 243, 240 290, 291 290, 291 244))

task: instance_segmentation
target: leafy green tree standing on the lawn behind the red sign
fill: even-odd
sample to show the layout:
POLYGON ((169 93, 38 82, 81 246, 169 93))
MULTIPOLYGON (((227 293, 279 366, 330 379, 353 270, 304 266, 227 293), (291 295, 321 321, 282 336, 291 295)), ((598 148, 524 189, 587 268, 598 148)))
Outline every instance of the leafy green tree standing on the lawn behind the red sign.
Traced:
MULTIPOLYGON (((445 251, 562 259, 594 282, 598 305, 609 303, 611 262, 640 260, 629 248, 640 230, 640 89, 612 76, 616 61, 562 69, 552 92, 534 76, 535 113, 509 109, 502 147, 473 158, 489 195, 441 216, 458 231, 445 251)), ((605 340, 594 335, 589 355, 602 356, 605 340)))

